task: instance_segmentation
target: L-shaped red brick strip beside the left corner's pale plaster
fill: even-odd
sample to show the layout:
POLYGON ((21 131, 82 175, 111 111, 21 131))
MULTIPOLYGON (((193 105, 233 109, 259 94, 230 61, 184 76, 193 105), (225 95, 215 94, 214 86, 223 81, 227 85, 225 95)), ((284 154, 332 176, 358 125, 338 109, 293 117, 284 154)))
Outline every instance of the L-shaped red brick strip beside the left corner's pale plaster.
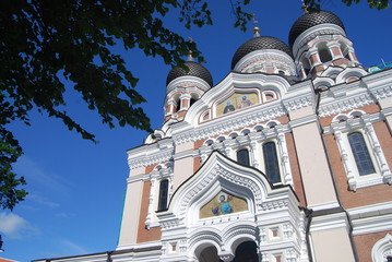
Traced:
POLYGON ((143 184, 142 203, 140 207, 139 228, 136 242, 149 242, 161 239, 161 227, 145 228, 145 217, 149 212, 149 199, 150 199, 151 184, 150 181, 143 184))

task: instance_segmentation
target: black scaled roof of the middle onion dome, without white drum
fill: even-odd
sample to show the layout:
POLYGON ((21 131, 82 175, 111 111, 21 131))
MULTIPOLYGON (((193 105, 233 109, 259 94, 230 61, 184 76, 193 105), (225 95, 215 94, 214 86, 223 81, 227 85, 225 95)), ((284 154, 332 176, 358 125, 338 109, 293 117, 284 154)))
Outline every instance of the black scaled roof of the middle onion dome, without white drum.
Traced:
POLYGON ((292 50, 282 40, 271 36, 258 36, 247 40, 237 49, 231 60, 231 69, 234 69, 237 62, 248 53, 262 49, 276 49, 293 57, 292 50))

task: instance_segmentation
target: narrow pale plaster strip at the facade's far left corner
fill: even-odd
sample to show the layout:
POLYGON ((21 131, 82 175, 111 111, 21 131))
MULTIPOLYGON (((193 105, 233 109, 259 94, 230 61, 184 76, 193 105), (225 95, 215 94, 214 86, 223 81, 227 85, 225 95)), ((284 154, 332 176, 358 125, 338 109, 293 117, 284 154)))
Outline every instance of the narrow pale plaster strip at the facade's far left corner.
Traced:
POLYGON ((136 243, 143 181, 128 183, 118 248, 136 243))

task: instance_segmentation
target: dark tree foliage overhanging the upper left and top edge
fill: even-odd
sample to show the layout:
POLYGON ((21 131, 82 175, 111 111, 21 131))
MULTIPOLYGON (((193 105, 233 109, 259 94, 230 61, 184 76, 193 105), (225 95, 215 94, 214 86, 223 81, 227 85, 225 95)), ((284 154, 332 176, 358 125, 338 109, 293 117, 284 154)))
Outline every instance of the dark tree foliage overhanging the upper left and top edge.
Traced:
MULTIPOLYGON (((342 0, 347 5, 359 0, 342 0)), ((235 27, 246 31, 251 14, 243 11, 250 0, 229 0, 235 27)), ((305 0, 320 8, 320 0, 305 0)), ((388 0, 368 0, 381 9, 388 0)), ((179 11, 187 28, 213 23, 207 0, 2 0, 0 3, 0 204, 13 206, 26 192, 12 164, 23 153, 7 124, 21 120, 29 124, 32 109, 55 117, 83 139, 94 134, 75 122, 63 108, 64 81, 73 83, 88 109, 97 111, 110 128, 115 123, 151 132, 150 119, 140 104, 144 98, 134 90, 138 79, 126 68, 123 58, 112 51, 139 48, 145 56, 183 66, 181 58, 197 45, 165 27, 163 17, 179 11)), ((70 85, 67 85, 70 87, 70 85)))

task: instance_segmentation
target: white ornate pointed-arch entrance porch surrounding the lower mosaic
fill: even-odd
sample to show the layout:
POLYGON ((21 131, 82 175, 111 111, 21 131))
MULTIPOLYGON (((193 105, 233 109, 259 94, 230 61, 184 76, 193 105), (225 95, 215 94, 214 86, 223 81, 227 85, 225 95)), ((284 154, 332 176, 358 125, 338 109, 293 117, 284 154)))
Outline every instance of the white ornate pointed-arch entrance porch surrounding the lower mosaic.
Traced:
MULTIPOLYGON (((179 243, 179 255, 185 260, 198 258, 203 250, 214 247, 219 259, 230 261, 240 243, 253 241, 259 247, 261 241, 265 241, 261 240, 260 231, 276 225, 278 222, 274 217, 289 222, 293 214, 300 213, 298 199, 290 187, 274 187, 258 169, 241 166, 214 151, 203 166, 178 187, 168 209, 156 215, 162 227, 162 241, 179 243), (247 209, 212 216, 199 215, 201 207, 219 196, 222 191, 246 201, 247 209), (256 222, 256 217, 261 216, 272 218, 261 225, 256 222)), ((304 226, 301 224, 294 230, 299 234, 304 226)), ((290 239, 288 246, 298 246, 302 240, 290 239)), ((288 247, 286 239, 278 241, 280 247, 288 247)), ((264 252, 271 253, 273 249, 264 252)), ((162 259, 170 261, 170 254, 164 253, 162 259)))

